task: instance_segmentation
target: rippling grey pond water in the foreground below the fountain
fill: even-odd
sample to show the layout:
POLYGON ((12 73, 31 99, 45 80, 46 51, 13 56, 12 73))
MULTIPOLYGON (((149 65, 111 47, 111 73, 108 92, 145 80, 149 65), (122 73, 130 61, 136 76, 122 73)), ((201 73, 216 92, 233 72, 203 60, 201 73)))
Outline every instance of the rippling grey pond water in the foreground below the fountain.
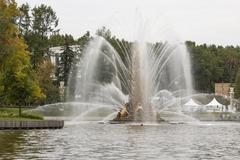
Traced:
POLYGON ((0 131, 0 159, 239 159, 239 123, 0 131))

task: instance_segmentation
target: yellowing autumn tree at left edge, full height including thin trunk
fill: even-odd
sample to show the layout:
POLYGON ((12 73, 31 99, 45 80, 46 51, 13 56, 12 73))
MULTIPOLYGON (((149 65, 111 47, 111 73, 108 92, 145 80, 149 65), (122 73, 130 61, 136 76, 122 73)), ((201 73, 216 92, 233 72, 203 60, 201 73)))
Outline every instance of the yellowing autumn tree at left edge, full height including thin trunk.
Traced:
POLYGON ((19 15, 15 1, 0 0, 0 101, 19 106, 39 103, 44 94, 30 63, 27 45, 15 20, 19 15))

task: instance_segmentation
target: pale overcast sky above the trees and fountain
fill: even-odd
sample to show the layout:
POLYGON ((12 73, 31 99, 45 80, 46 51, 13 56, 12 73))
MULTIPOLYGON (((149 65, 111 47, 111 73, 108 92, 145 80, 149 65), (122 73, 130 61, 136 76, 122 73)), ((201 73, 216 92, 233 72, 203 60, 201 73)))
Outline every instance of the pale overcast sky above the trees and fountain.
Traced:
MULTIPOLYGON (((27 2, 31 7, 41 3, 50 5, 60 20, 58 28, 61 33, 72 34, 75 38, 82 36, 86 31, 94 34, 98 28, 106 26, 112 34, 131 39, 131 33, 135 30, 133 26, 141 19, 140 21, 144 23, 151 22, 158 26, 157 30, 164 30, 162 32, 165 34, 174 33, 182 41, 240 45, 240 0, 16 0, 16 2, 18 4, 27 2), (135 20, 137 22, 133 22, 135 20)), ((150 33, 152 30, 150 27, 147 32, 150 33)))

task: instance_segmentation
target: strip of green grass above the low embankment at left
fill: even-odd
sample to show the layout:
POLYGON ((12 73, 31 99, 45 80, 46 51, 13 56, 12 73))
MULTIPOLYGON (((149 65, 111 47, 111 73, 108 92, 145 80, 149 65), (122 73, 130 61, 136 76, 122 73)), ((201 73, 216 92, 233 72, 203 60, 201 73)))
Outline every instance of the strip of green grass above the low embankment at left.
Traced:
POLYGON ((0 120, 43 120, 43 116, 39 114, 25 113, 30 109, 23 108, 22 114, 19 116, 18 108, 0 108, 0 120))

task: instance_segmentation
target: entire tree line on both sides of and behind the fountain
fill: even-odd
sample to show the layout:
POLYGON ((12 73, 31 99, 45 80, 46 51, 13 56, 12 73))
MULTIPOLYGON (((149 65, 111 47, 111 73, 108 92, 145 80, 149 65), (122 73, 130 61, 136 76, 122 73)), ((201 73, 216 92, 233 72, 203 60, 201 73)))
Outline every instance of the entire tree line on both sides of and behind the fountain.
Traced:
MULTIPOLYGON (((77 39, 60 34, 58 23, 59 18, 50 6, 41 4, 31 8, 27 3, 18 6, 14 0, 0 0, 0 104, 39 105, 60 101, 59 82, 64 81, 67 86, 69 80, 74 81, 77 63, 92 36, 88 31, 77 39), (78 45, 79 51, 74 51, 72 45, 78 45), (57 66, 51 63, 49 53, 49 48, 55 46, 62 46, 57 66)), ((131 42, 113 36, 105 27, 96 34, 104 37, 126 62, 121 45, 131 42)), ((215 82, 229 82, 235 83, 239 98, 239 46, 199 45, 192 41, 187 41, 186 46, 197 91, 213 92, 215 82)), ((101 78, 111 80, 104 74, 101 78)))

